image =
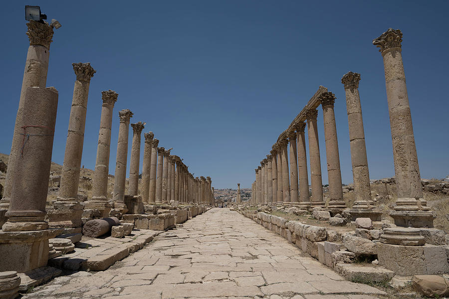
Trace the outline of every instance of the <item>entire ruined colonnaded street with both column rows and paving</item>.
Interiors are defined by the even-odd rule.
[[[324,86],[256,165],[251,196],[237,183],[235,203],[227,201],[227,208],[219,208],[225,202],[216,199],[219,190],[210,176],[194,176],[184,159],[172,154],[177,149],[160,146],[164,136],[158,140],[155,133],[143,132],[152,129],[151,123],[130,123],[133,112],[122,109],[114,128],[119,99],[110,89],[101,93],[95,170],[92,179],[81,176],[87,100],[97,72],[82,62],[72,63],[76,80],[64,160],[60,181],[56,175],[51,180],[56,201],[48,202],[58,108],[58,91],[46,87],[54,25],[30,20],[27,27],[30,45],[0,200],[0,256],[7,260],[0,262],[0,298],[13,299],[19,293],[25,298],[50,293],[49,298],[83,293],[92,298],[193,298],[200,292],[199,298],[339,294],[371,299],[391,295],[383,283],[413,282],[418,290],[428,280],[447,284],[441,294],[449,294],[443,276],[449,273],[449,234],[434,228],[436,212],[424,199],[399,29],[390,28],[373,40],[383,57],[393,145],[397,199],[388,211],[390,220],[372,197],[358,90],[361,75],[356,72],[341,78],[352,204],[344,198],[334,113],[342,102]],[[321,173],[320,113],[327,188]],[[113,177],[112,134],[118,134]],[[89,180],[89,196],[79,194],[80,181]],[[235,189],[229,193],[233,199]],[[367,297],[347,297],[353,295]]]

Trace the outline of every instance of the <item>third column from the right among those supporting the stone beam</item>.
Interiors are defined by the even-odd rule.
[[[299,187],[299,206],[303,208],[308,208],[310,206],[309,198],[309,179],[307,173],[307,156],[305,148],[305,136],[304,128],[305,123],[298,123],[295,126],[296,129],[296,140],[297,140],[297,150],[298,150],[298,187]]]

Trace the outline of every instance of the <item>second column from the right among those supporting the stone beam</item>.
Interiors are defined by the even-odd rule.
[[[323,200],[323,182],[321,180],[321,160],[320,146],[318,142],[318,128],[316,118],[318,111],[316,109],[308,110],[307,135],[309,138],[309,156],[310,156],[310,180],[312,181],[312,207],[324,207]]]

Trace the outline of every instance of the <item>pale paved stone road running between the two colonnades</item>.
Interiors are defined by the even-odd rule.
[[[215,208],[162,233],[107,271],[56,278],[23,299],[374,299],[383,294],[345,281],[237,212]]]

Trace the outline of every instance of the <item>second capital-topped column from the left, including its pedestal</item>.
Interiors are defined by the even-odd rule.
[[[72,66],[76,81],[73,88],[61,183],[57,201],[53,203],[54,210],[48,212],[50,227],[80,228],[83,224],[81,221],[83,206],[77,200],[79,167],[83,153],[89,85],[95,70],[90,63],[72,63]]]

